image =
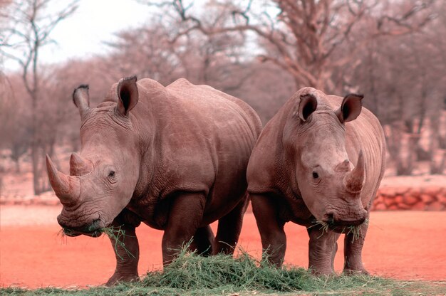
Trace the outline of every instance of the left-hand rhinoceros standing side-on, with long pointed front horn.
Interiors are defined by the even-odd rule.
[[[48,177],[63,209],[67,236],[110,238],[116,257],[108,285],[138,278],[141,222],[164,231],[162,260],[183,243],[199,253],[232,253],[247,208],[246,171],[261,131],[242,100],[185,79],[164,87],[123,78],[90,107],[88,85],[73,93],[81,114],[81,153],[70,174],[46,156]],[[218,220],[214,238],[209,223]]]

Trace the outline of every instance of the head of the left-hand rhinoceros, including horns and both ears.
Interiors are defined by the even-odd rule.
[[[129,114],[138,102],[136,77],[121,79],[96,108],[90,108],[87,85],[76,88],[73,102],[81,113],[81,154],[71,154],[69,175],[48,155],[46,168],[63,204],[58,223],[65,233],[98,236],[128,205],[139,177],[138,140]]]

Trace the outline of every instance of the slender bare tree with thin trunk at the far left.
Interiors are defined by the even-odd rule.
[[[65,8],[56,12],[49,12],[49,7],[55,4],[53,0],[16,0],[3,9],[0,17],[6,20],[2,23],[1,31],[4,33],[0,53],[6,58],[16,60],[21,67],[21,77],[24,87],[31,98],[32,108],[32,141],[31,159],[33,166],[34,193],[40,194],[47,188],[46,181],[41,177],[39,162],[43,159],[38,154],[41,148],[41,139],[36,128],[38,122],[38,102],[41,100],[40,72],[38,69],[38,56],[42,46],[51,43],[51,31],[63,19],[71,16],[78,8],[78,0],[68,2]],[[44,179],[46,180],[46,178]]]

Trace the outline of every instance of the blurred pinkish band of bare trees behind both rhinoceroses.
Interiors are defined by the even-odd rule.
[[[137,0],[155,13],[116,32],[105,54],[47,64],[39,50],[81,5],[48,9],[54,1],[0,0],[0,65],[20,65],[0,72],[1,157],[16,171],[28,159],[36,194],[49,189],[44,155],[80,149],[73,89],[88,83],[94,106],[129,75],[211,85],[248,102],[264,124],[304,86],[363,93],[385,129],[394,174],[413,174],[421,162],[445,173],[443,1]]]

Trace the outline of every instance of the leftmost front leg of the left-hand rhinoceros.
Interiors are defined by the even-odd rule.
[[[139,225],[139,222],[138,222]],[[116,269],[105,285],[115,285],[116,282],[130,282],[138,280],[138,260],[140,258],[140,246],[135,233],[134,223],[124,223],[122,214],[115,218],[112,226],[117,229],[115,236],[119,240],[110,237],[115,251]]]

